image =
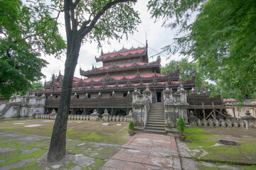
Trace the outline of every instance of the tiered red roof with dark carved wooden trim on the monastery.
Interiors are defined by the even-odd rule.
[[[137,57],[132,59],[133,57]],[[122,59],[122,60],[120,60]],[[112,62],[109,62],[109,61]],[[190,80],[179,81],[178,68],[169,74],[161,74],[160,57],[155,62],[149,62],[147,56],[147,46],[131,48],[129,50],[122,48],[119,52],[109,52],[100,55],[96,61],[103,62],[103,67],[83,71],[80,69],[80,75],[88,77],[87,79],[73,79],[73,91],[112,91],[112,90],[132,90],[134,87],[151,86],[155,89],[163,89],[166,84],[176,89],[180,84],[185,88],[195,86],[194,77]],[[134,62],[140,61],[140,62]],[[104,66],[104,63],[107,66]],[[119,63],[119,64],[114,64]],[[142,71],[142,73],[140,72]],[[113,73],[113,74],[112,74]],[[45,91],[60,91],[63,75],[52,80],[50,86],[45,86]]]

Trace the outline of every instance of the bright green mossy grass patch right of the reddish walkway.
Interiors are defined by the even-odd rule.
[[[233,137],[228,134],[218,134],[209,128],[186,128],[189,149],[195,153],[194,158],[206,162],[220,162],[228,164],[255,164],[256,140],[245,140],[244,137]],[[245,134],[246,135],[246,134]],[[214,146],[218,140],[232,137],[237,146]],[[229,139],[229,138],[228,138]],[[249,139],[249,138],[248,138]],[[194,151],[193,151],[194,150]],[[208,152],[203,156],[203,152]]]

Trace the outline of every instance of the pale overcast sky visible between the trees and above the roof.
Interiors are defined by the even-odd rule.
[[[161,48],[171,44],[174,39],[174,35],[176,34],[176,30],[171,30],[171,28],[162,27],[162,22],[154,22],[154,18],[151,18],[149,11],[147,11],[146,0],[138,0],[134,8],[139,11],[140,18],[142,23],[137,27],[138,32],[135,32],[133,35],[129,35],[128,40],[124,38],[120,42],[117,40],[110,40],[110,44],[106,42],[102,42],[102,50],[104,53],[112,52],[114,50],[121,50],[124,48],[133,47],[143,47],[146,44],[146,40],[148,42],[148,54],[149,54],[149,62],[156,60],[156,57],[151,57],[156,55],[158,52],[161,52]],[[59,20],[60,23],[64,23],[64,15],[61,15]],[[63,36],[65,40],[65,27],[59,27],[60,34]],[[95,56],[99,57],[101,53],[101,49],[97,49],[97,43],[92,42],[86,43],[82,45],[80,49],[80,56],[78,58],[78,65],[75,69],[75,77],[81,78],[80,76],[80,68],[83,70],[92,69],[92,64],[96,65],[96,67],[102,67],[102,62],[96,62]],[[169,63],[170,60],[179,60],[181,59],[176,56],[171,56],[169,59],[167,58],[169,55],[163,54],[161,55],[161,66]],[[65,65],[65,55],[61,57],[60,60],[55,59],[53,56],[43,56],[44,60],[49,62],[50,64],[47,67],[42,69],[43,74],[46,75],[46,81],[50,80],[52,74],[64,74],[64,65]],[[82,77],[84,79],[85,77]],[[42,79],[41,81],[44,81]]]

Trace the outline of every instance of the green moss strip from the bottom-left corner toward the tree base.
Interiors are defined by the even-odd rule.
[[[18,155],[18,157],[15,157],[14,159],[11,159],[7,162],[1,162],[0,166],[9,165],[14,162],[18,162],[21,159],[28,159],[29,157],[34,157],[34,158],[43,157],[43,153],[45,153],[46,151],[47,151],[46,149],[40,149],[36,152],[31,152],[30,154],[20,154]]]

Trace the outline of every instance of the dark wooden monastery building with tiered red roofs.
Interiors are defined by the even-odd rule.
[[[73,78],[73,94],[70,102],[70,114],[90,114],[96,108],[97,112],[104,113],[105,108],[112,115],[127,115],[132,110],[132,91],[137,88],[144,91],[146,86],[152,91],[152,102],[163,102],[163,91],[166,84],[173,91],[183,84],[186,91],[191,91],[195,86],[195,77],[188,81],[180,81],[178,68],[169,74],[161,74],[161,59],[157,57],[154,62],[149,62],[147,45],[131,49],[124,49],[114,52],[101,53],[95,57],[96,62],[102,62],[102,67],[92,65],[90,70],[82,70],[82,79]],[[50,85],[45,84],[45,89],[34,91],[41,96],[46,95],[46,113],[51,113],[53,108],[58,110],[60,91],[63,82],[63,75],[53,78]],[[188,96],[188,103],[191,109],[201,108],[201,101],[206,98],[193,100]],[[208,96],[207,96],[208,98]],[[209,101],[221,101],[220,97]],[[196,103],[197,102],[197,103]],[[198,104],[199,103],[199,104]],[[200,105],[200,106],[198,106]],[[221,105],[221,103],[218,103]]]

